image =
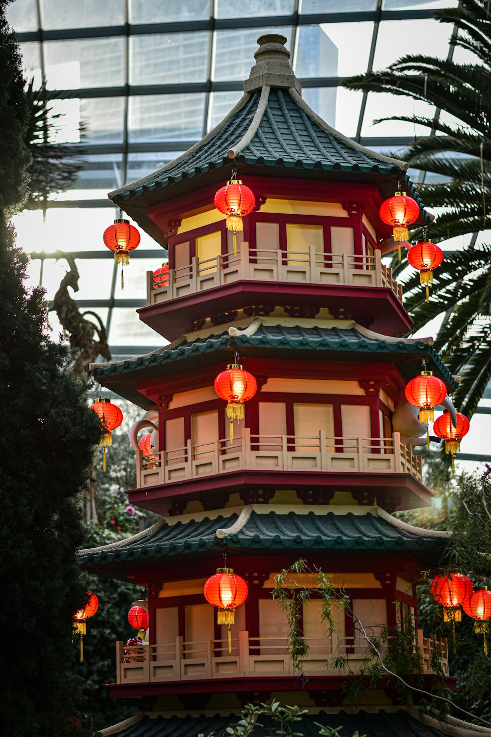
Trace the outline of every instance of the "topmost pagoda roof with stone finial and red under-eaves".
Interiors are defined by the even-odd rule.
[[[384,196],[392,195],[398,183],[404,182],[420,206],[421,216],[414,225],[423,225],[423,203],[406,174],[406,161],[361,146],[307,105],[289,63],[284,36],[264,35],[258,43],[257,61],[244,83],[244,96],[225,119],[182,156],[110,192],[110,200],[165,245],[165,234],[146,210],[228,179],[224,167],[229,171],[237,167],[241,175],[377,184]]]

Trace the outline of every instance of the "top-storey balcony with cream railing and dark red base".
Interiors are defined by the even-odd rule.
[[[247,242],[240,248],[236,256],[194,257],[191,264],[169,270],[167,284],[148,271],[141,319],[175,340],[199,317],[251,305],[291,309],[308,299],[313,313],[327,308],[333,316],[345,315],[379,332],[403,332],[411,326],[402,307],[402,287],[392,278],[392,270],[381,263],[380,251],[372,255],[319,254],[314,246],[308,252],[269,251],[249,248]],[[170,311],[172,324],[164,324],[162,315]]]

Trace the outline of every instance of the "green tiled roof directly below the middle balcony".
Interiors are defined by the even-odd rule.
[[[150,558],[222,551],[225,539],[216,537],[219,528],[236,522],[238,515],[169,525],[165,521],[148,537],[127,539],[115,548],[80,551],[82,566],[107,565]],[[445,548],[441,538],[421,537],[390,525],[373,514],[258,514],[252,511],[239,532],[226,537],[228,550],[236,551],[397,551],[421,553]]]

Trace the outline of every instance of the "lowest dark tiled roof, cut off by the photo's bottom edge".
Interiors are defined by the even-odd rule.
[[[119,737],[160,737],[166,735],[168,737],[196,737],[199,734],[211,734],[215,737],[228,737],[227,727],[236,724],[239,716],[230,714],[228,716],[157,716],[152,719],[148,714],[142,713],[127,719],[126,722],[116,724],[110,727],[110,733],[107,730],[107,737],[118,734]],[[436,720],[432,720],[436,723]],[[266,726],[269,725],[266,718],[261,718]],[[305,714],[299,722],[293,724],[295,733],[303,737],[318,737],[319,727],[316,722],[325,727],[336,729],[342,727],[339,737],[351,737],[353,734],[370,735],[370,737],[443,737],[443,733],[430,724],[422,724],[417,721],[406,711],[400,709],[396,713],[389,713],[381,710],[378,713],[367,713],[364,710],[356,714],[348,714],[340,711],[337,714],[319,711],[317,714]],[[439,724],[444,730],[445,726]],[[468,733],[474,736],[478,733],[473,730],[475,725],[469,724]],[[117,730],[117,727],[121,727]],[[116,731],[115,731],[116,730]],[[447,730],[445,730],[446,732]],[[448,732],[447,732],[448,733]],[[453,732],[455,734],[455,728]],[[462,730],[464,733],[464,730]],[[106,730],[102,730],[102,737],[105,737]],[[254,734],[257,737],[266,737],[270,734],[261,726],[254,727]]]

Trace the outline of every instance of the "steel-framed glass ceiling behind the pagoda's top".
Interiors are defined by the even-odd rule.
[[[286,35],[314,111],[362,144],[397,150],[423,130],[373,119],[396,108],[421,115],[429,106],[347,91],[339,82],[409,52],[446,57],[448,25],[432,12],[451,4],[456,0],[15,0],[7,15],[25,74],[36,82],[45,76],[52,108],[64,113],[57,142],[77,144],[79,126],[85,129],[85,168],[75,188],[55,195],[45,217],[15,217],[18,245],[32,254],[32,283],[53,298],[67,269],[54,252],[74,254],[77,301],[105,321],[113,357],[160,347],[135,307],[144,304],[146,270],[165,252],[142,233],[121,292],[102,243],[116,215],[107,192],[162,167],[211,130],[241,97],[256,40],[271,31]],[[56,335],[54,312],[50,321]]]

